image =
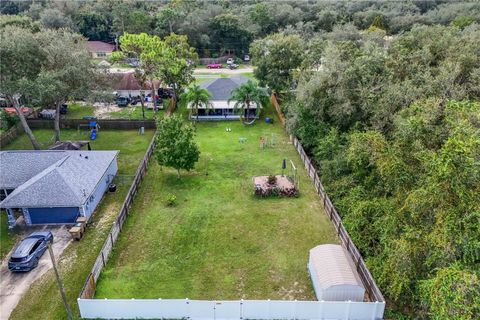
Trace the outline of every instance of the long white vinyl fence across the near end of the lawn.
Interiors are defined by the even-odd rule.
[[[383,319],[385,302],[78,299],[87,319]]]

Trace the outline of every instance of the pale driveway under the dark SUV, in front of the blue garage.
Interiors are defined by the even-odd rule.
[[[35,229],[39,231],[47,229],[53,233],[53,253],[55,258],[62,254],[63,250],[72,240],[70,233],[64,226],[48,226]],[[26,234],[34,231],[29,229]],[[39,279],[45,272],[52,268],[50,256],[48,250],[45,251],[42,258],[38,262],[38,267],[27,273],[13,273],[8,270],[8,257],[2,261],[1,273],[0,273],[0,319],[7,320],[13,309],[17,306],[22,296],[27,292],[30,285],[37,279]],[[58,261],[58,260],[57,260]],[[60,296],[59,296],[60,298]]]

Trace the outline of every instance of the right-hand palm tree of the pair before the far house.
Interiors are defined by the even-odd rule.
[[[233,89],[228,103],[230,103],[230,101],[235,101],[233,109],[241,110],[240,119],[243,124],[250,125],[254,123],[255,119],[260,115],[262,99],[264,97],[268,97],[267,90],[259,87],[252,80],[248,80],[238,88]],[[255,116],[250,119],[250,107],[252,104],[256,105]]]

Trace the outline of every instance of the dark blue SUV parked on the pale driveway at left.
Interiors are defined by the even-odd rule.
[[[38,260],[47,250],[48,243],[53,242],[50,231],[33,232],[17,245],[10,260],[8,269],[12,272],[26,272],[38,265]]]

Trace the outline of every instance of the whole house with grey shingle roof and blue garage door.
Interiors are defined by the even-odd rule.
[[[10,227],[73,224],[90,218],[117,173],[118,151],[0,152],[0,208]]]

